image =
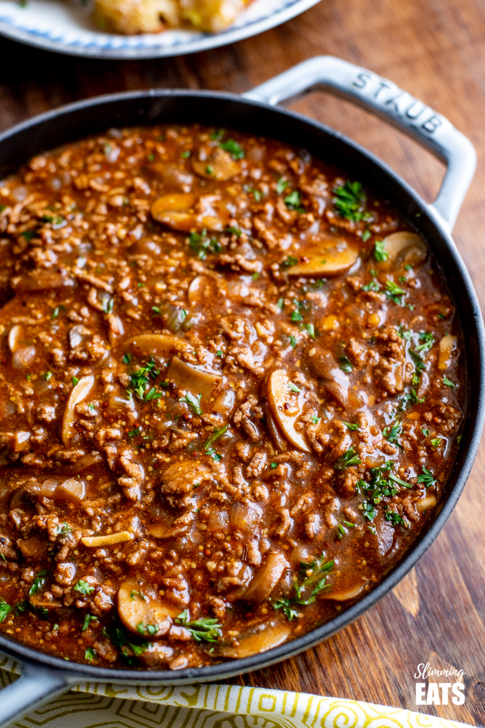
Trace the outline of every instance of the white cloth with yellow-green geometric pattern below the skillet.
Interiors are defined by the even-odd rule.
[[[18,665],[0,654],[0,687]],[[0,692],[1,700],[1,692]],[[136,687],[85,682],[20,728],[457,728],[464,724],[358,700],[230,685]]]

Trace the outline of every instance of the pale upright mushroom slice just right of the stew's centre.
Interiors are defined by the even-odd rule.
[[[292,392],[289,387],[289,376],[283,369],[275,369],[268,378],[268,404],[276,424],[285,438],[305,452],[310,448],[305,438],[294,429],[297,418],[302,414],[305,395],[302,391]]]

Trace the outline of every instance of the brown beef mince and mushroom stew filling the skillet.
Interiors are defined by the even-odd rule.
[[[460,441],[460,333],[364,183],[199,126],[0,183],[2,632],[199,667],[321,625],[409,549]]]

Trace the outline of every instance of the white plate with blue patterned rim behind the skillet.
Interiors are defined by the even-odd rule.
[[[235,43],[285,23],[319,0],[255,0],[227,31],[164,31],[122,36],[92,25],[89,7],[64,0],[0,0],[0,34],[21,43],[89,58],[161,58]]]

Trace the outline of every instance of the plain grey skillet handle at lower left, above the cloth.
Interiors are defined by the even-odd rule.
[[[60,670],[51,670],[27,660],[22,663],[20,678],[0,691],[0,728],[20,720],[44,703],[76,684],[79,678],[66,676]]]

